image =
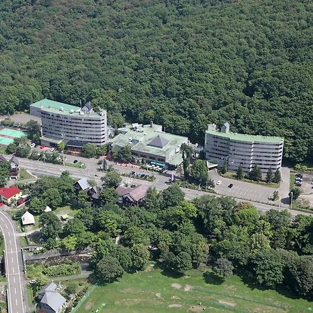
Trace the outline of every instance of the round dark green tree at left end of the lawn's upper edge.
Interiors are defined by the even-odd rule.
[[[103,282],[113,282],[122,277],[124,270],[116,257],[106,255],[98,262],[95,274]]]

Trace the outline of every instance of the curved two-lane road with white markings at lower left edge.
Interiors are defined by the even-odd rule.
[[[24,287],[22,254],[15,231],[15,225],[5,212],[0,211],[0,230],[3,234],[8,278],[8,312],[24,313]]]

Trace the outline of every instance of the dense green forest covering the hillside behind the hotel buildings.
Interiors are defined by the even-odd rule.
[[[1,0],[0,113],[91,100],[203,143],[209,122],[313,161],[313,3]]]

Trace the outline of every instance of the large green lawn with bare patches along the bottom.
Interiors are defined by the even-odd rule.
[[[287,298],[274,290],[249,287],[234,275],[221,282],[214,274],[160,269],[125,274],[120,282],[96,287],[75,313],[163,312],[307,312],[313,303]],[[98,310],[98,311],[96,311]]]

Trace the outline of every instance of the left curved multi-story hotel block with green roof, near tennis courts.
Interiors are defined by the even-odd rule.
[[[56,146],[61,141],[69,150],[81,150],[86,143],[104,145],[108,138],[106,111],[93,111],[90,102],[83,108],[43,99],[30,106],[31,115],[42,121],[42,145]]]

